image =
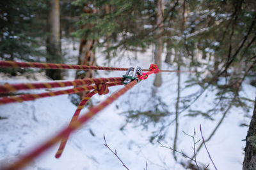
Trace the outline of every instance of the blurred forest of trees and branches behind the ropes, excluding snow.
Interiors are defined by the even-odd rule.
[[[130,110],[125,114],[129,123],[142,122],[144,127],[160,125],[149,139],[152,143],[165,138],[164,129],[168,124],[164,118],[172,115],[175,135],[171,143],[172,149],[177,150],[179,115],[209,89],[216,90],[213,106],[205,111],[189,110],[188,113],[191,118],[204,117],[212,121],[214,116],[220,116],[206,143],[218,132],[231,108],[241,108],[244,117],[252,117],[256,103],[241,96],[240,92],[244,82],[256,86],[256,2],[253,0],[10,0],[1,1],[0,9],[1,60],[69,64],[67,54],[61,50],[61,39],[70,39],[74,43],[79,41],[77,64],[96,66],[97,49],[103,51],[106,66],[109,66],[111,60],[122,57],[118,53],[133,52],[135,55],[131,60],[136,60],[136,53],[152,48],[159,69],[164,61],[178,71],[193,71],[185,88],[199,85],[200,89],[181,97],[180,90],[184,90],[180,85],[182,73],[177,73],[177,98],[172,113],[163,110],[164,103],[157,100],[156,110]],[[33,69],[0,71],[13,78],[20,75],[33,77],[35,73]],[[52,80],[64,79],[65,74],[63,71],[45,71]],[[78,71],[74,78],[92,78],[95,74]],[[153,93],[157,93],[163,78],[163,74],[156,74]],[[76,104],[74,99],[76,97],[72,102]],[[253,114],[256,114],[255,110]],[[245,152],[244,169],[253,164],[255,167],[252,152],[256,145],[255,118],[256,115],[252,117],[251,130],[246,137],[248,151]],[[249,124],[241,126],[249,127]],[[202,146],[200,143],[196,152]],[[175,160],[177,154],[173,152]]]

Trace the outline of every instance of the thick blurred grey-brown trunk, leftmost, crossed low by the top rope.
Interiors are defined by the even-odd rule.
[[[47,62],[61,62],[61,45],[60,45],[60,2],[59,0],[50,0],[49,13],[47,18],[47,40],[46,51],[49,57]],[[46,73],[53,80],[62,79],[61,70],[47,69]]]

